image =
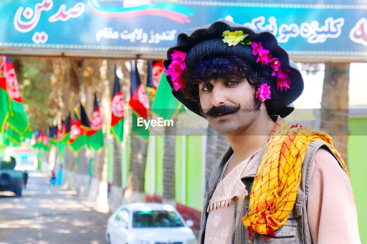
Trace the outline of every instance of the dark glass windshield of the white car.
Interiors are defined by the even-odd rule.
[[[134,211],[132,228],[183,227],[182,221],[173,211]]]

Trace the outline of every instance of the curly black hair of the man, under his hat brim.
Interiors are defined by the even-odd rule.
[[[216,78],[235,77],[246,79],[256,88],[262,83],[270,86],[271,99],[265,100],[265,106],[269,115],[275,114],[274,109],[281,107],[280,90],[277,89],[276,76],[272,76],[273,69],[269,65],[260,62],[253,63],[236,56],[203,56],[197,65],[182,74],[185,87],[181,89],[183,96],[197,102],[199,99],[199,84],[209,83]],[[256,99],[256,101],[258,101]],[[284,105],[283,105],[284,106]]]

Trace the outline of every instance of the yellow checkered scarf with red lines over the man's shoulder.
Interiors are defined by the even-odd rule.
[[[255,175],[250,195],[250,212],[241,219],[248,229],[250,239],[252,230],[275,236],[274,230],[287,221],[301,182],[306,149],[312,141],[326,143],[346,171],[342,157],[333,147],[333,140],[326,132],[305,126],[297,127],[284,119],[278,119]]]

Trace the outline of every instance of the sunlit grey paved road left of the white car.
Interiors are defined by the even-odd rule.
[[[0,192],[0,243],[106,243],[109,215],[95,211],[75,191],[49,188],[48,182],[34,171],[21,198]]]

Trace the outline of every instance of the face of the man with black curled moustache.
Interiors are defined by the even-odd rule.
[[[225,135],[239,135],[258,116],[261,106],[255,99],[255,86],[240,78],[201,83],[199,97],[204,117],[218,133]]]

